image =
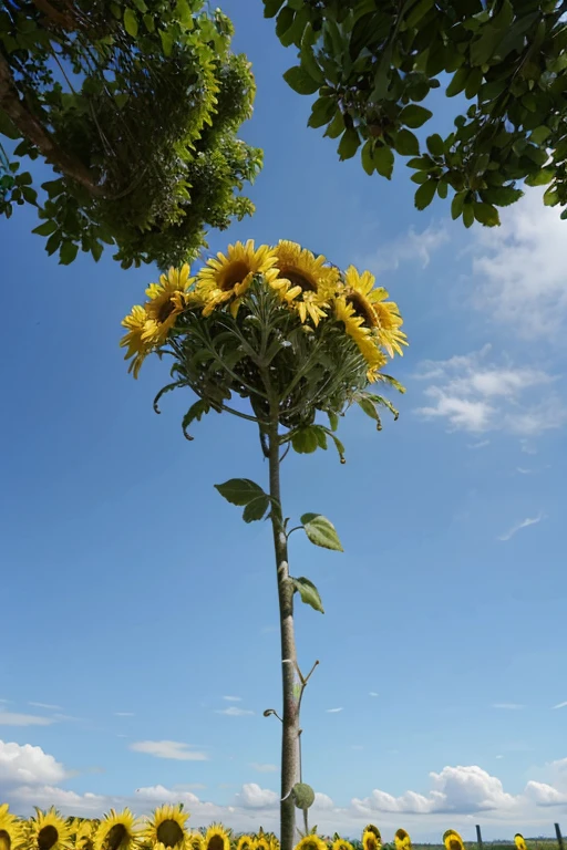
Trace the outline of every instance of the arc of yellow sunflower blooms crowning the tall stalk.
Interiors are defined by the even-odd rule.
[[[364,357],[371,382],[378,380],[386,354],[401,354],[401,346],[408,344],[398,305],[386,301],[385,289],[374,287],[369,271],[349,266],[342,273],[326,257],[296,242],[255,247],[250,239],[229,245],[226,255],[207,260],[196,276],[188,266],[172,268],[159,283],[148,287],[147,301],[136,304],[122,322],[126,333],[121,345],[134,377],[145,357],[166,343],[182,313],[202,311],[207,318],[226,307],[236,317],[257,277],[307,329],[326,319],[340,322]]]

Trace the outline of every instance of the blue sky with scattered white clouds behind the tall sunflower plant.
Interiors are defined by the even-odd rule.
[[[467,232],[442,201],[415,212],[403,160],[392,183],[340,164],[260,6],[224,4],[258,83],[257,214],[210,247],[289,238],[368,267],[411,341],[396,423],[377,434],[353,412],[346,466],[286,463],[286,512],[328,515],[346,550],[292,538],[327,612],[297,616],[302,666],[321,662],[303,709],[316,820],[550,833],[567,823],[566,225],[534,190],[497,231]],[[163,364],[135,382],[117,345],[155,269],[60,267],[33,226],[18,209],[0,230],[1,796],[86,813],[184,799],[195,823],[270,826],[270,533],[213,488],[265,478],[257,436],[212,416],[186,443],[181,394],[156,416]]]

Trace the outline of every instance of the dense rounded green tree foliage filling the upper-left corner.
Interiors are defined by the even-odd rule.
[[[261,152],[237,138],[254,77],[233,24],[203,0],[0,3],[0,214],[38,208],[34,232],[71,262],[79,249],[161,267],[193,259],[207,227],[254,211],[240,195]],[[1,138],[4,137],[4,139]],[[7,147],[11,149],[9,154]],[[54,179],[33,187],[22,157]]]

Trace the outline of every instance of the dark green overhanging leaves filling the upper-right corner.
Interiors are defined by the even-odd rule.
[[[360,153],[368,174],[392,176],[410,157],[415,206],[452,189],[466,227],[499,224],[517,182],[547,186],[546,205],[567,205],[567,2],[557,0],[264,0],[299,64],[285,79],[318,94],[309,126]],[[421,105],[445,86],[463,107],[445,138],[413,132]],[[466,101],[470,101],[468,108]],[[567,218],[567,208],[561,218]]]

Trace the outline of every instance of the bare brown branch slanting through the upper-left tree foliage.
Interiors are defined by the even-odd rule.
[[[84,186],[91,195],[104,197],[104,186],[95,183],[93,174],[82,163],[65,154],[43,124],[33,115],[23,101],[12,79],[10,66],[0,55],[0,107],[16,124],[20,133],[45,157],[48,163],[61,168],[73,180]]]

